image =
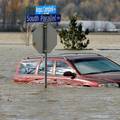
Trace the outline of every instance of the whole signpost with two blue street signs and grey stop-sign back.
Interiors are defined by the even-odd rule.
[[[45,61],[45,88],[47,88],[47,52],[50,52],[56,45],[57,41],[57,32],[53,30],[49,24],[49,22],[60,22],[61,15],[57,14],[57,6],[56,5],[46,5],[46,0],[42,0],[44,2],[43,6],[36,6],[35,14],[26,15],[27,23],[34,22],[42,22],[42,28],[38,28],[33,32],[34,37],[34,47],[38,50],[39,53],[44,53],[44,61]],[[40,33],[38,33],[41,31]],[[49,32],[48,32],[49,31]],[[41,37],[42,36],[42,37]],[[49,36],[49,37],[48,37]],[[42,38],[41,42],[37,40]],[[48,40],[50,39],[50,40]],[[40,39],[41,40],[41,39]],[[54,42],[52,42],[54,41]],[[48,48],[49,46],[49,48]]]

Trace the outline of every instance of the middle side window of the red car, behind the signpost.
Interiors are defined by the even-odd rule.
[[[53,65],[54,61],[47,61],[47,73],[48,74],[53,74]],[[41,62],[39,69],[38,69],[38,74],[44,74],[45,73],[45,61]]]

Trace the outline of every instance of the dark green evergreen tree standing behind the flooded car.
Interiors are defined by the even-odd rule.
[[[89,39],[86,35],[89,34],[89,30],[82,30],[82,24],[77,25],[77,16],[70,18],[68,29],[62,28],[59,32],[61,43],[65,49],[82,50],[89,44]]]

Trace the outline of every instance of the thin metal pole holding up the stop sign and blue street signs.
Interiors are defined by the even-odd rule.
[[[45,88],[47,88],[47,24],[43,24],[43,53],[45,54]]]

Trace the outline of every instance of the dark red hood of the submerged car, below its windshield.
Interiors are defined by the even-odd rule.
[[[96,82],[116,82],[120,83],[120,72],[108,72],[100,74],[89,74],[84,76],[88,80],[94,80]]]

